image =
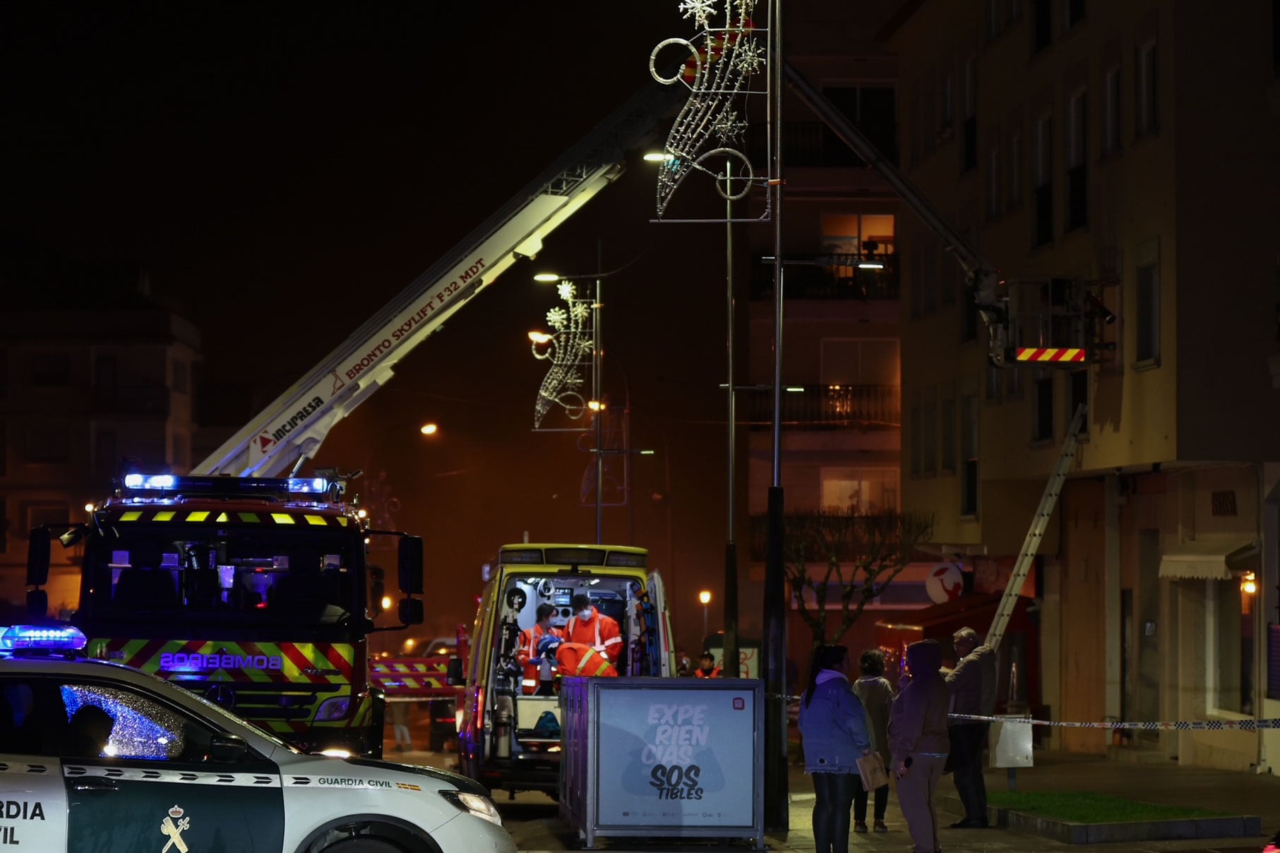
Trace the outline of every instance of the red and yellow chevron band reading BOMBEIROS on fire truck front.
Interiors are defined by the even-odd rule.
[[[170,680],[351,684],[349,643],[253,643],[227,639],[93,639],[90,656]]]

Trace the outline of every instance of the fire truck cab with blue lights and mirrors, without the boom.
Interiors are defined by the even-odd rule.
[[[383,600],[372,537],[398,540],[401,625],[422,622],[422,540],[367,529],[323,477],[124,477],[90,520],[72,622],[90,657],[136,666],[307,751],[379,757],[383,696],[367,638]],[[28,582],[51,535],[32,532]],[[32,609],[44,611],[40,593]]]

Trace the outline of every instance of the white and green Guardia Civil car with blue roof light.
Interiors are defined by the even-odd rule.
[[[488,792],[305,755],[74,628],[0,636],[0,845],[45,852],[515,853]]]

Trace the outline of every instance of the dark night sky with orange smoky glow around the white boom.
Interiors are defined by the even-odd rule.
[[[0,237],[145,270],[201,330],[201,423],[239,427],[645,84],[650,49],[692,35],[677,5],[0,5]],[[659,451],[605,540],[652,549],[698,642],[726,536],[723,229],[650,224],[653,192],[631,162],[321,450],[381,478],[425,537],[425,633],[470,622],[500,544],[594,541],[586,454],[531,432],[525,333],[556,304],[532,274],[595,271],[599,246],[605,270],[639,257],[605,283],[605,349],[632,446]],[[605,387],[623,395],[616,366]]]

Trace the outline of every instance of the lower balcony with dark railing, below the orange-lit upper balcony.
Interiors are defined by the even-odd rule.
[[[812,427],[899,428],[901,389],[897,385],[795,385],[782,391],[782,423]],[[740,398],[753,425],[773,422],[773,391],[751,389]]]

